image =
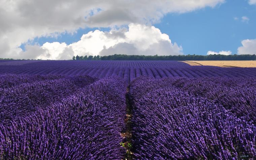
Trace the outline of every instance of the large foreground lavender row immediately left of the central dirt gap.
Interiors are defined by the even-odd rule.
[[[30,115],[0,125],[2,159],[121,159],[126,83],[101,79]]]

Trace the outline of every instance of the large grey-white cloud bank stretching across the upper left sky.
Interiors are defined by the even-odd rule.
[[[225,0],[0,0],[0,57],[22,58],[29,39],[85,27],[151,25],[167,13],[215,7]],[[64,51],[63,51],[64,52]],[[46,56],[47,57],[47,56]]]

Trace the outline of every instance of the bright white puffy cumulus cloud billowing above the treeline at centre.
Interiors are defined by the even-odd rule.
[[[40,55],[35,59],[71,59],[75,55],[181,55],[182,47],[172,43],[167,34],[154,26],[129,24],[129,29],[99,30],[84,34],[81,40],[66,43],[46,42],[40,47]],[[35,46],[38,49],[38,46]],[[28,53],[34,48],[27,48]],[[43,52],[41,52],[43,51]]]

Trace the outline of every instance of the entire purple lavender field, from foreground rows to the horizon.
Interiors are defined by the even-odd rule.
[[[256,68],[0,60],[0,159],[254,159]]]

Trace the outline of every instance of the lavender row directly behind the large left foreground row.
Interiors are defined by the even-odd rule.
[[[95,80],[89,76],[73,76],[1,89],[0,123],[7,123],[15,117],[27,115],[39,108],[60,101]]]

